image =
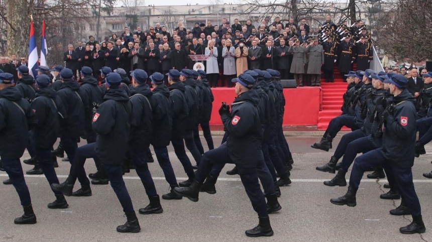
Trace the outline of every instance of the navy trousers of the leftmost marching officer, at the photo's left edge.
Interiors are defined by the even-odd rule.
[[[21,166],[20,158],[8,159],[1,157],[1,159],[3,168],[5,168],[9,179],[11,179],[12,185],[14,185],[15,190],[17,190],[21,205],[24,207],[32,205],[32,199],[30,198],[29,188],[27,187],[26,180],[24,179],[23,167]]]

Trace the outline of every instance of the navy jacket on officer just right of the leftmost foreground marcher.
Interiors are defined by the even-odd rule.
[[[31,105],[38,119],[33,137],[35,146],[50,150],[60,134],[62,119],[59,113],[66,117],[66,110],[57,92],[49,87],[39,89]]]

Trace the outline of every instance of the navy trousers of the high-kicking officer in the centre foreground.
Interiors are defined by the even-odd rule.
[[[257,159],[259,158],[257,157]],[[233,163],[233,161],[230,159],[230,156],[228,154],[228,148],[225,143],[216,149],[204,153],[201,163],[198,166],[195,180],[202,184],[205,178],[210,174],[210,171],[212,170],[214,165],[225,165],[226,163]],[[264,162],[261,162],[261,164],[264,164]],[[239,172],[240,179],[242,180],[243,186],[245,187],[246,193],[248,194],[254,210],[258,213],[260,217],[267,217],[267,205],[264,194],[261,191],[261,187],[258,182],[257,168],[244,168],[241,166],[237,166],[237,170]],[[271,179],[270,182],[273,184]]]

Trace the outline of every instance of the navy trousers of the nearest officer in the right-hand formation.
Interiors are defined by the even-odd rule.
[[[350,186],[357,190],[364,171],[372,167],[384,167],[389,184],[397,186],[401,196],[404,197],[408,209],[411,211],[411,215],[420,216],[420,202],[418,201],[414,183],[412,182],[411,167],[401,168],[395,166],[392,164],[392,161],[384,157],[382,148],[369,151],[356,158],[353,170],[351,171]]]

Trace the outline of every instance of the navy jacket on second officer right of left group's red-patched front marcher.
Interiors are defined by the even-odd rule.
[[[170,92],[165,84],[153,89],[153,135],[151,144],[156,147],[169,145],[172,131],[172,102]]]

